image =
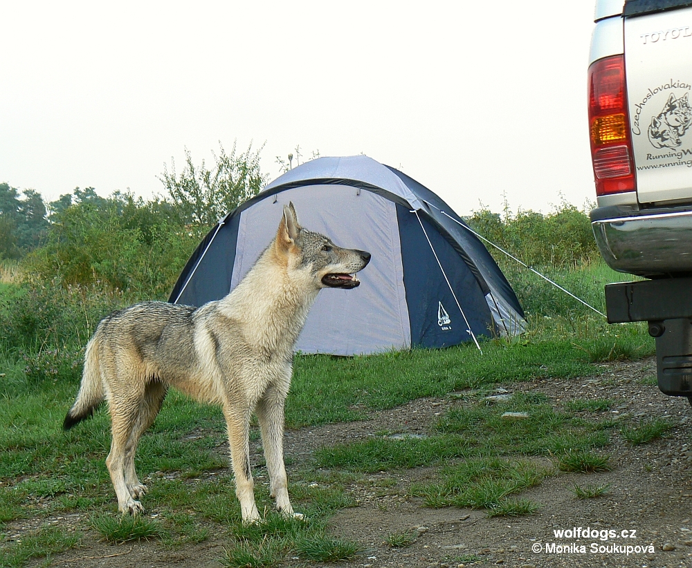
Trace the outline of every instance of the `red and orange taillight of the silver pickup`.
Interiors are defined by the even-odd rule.
[[[589,68],[589,128],[597,196],[635,191],[623,55]]]

